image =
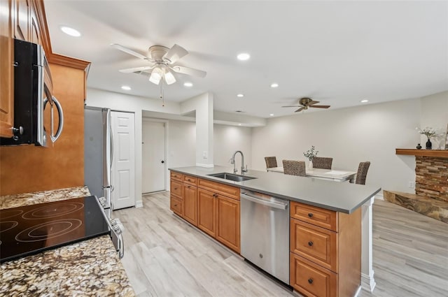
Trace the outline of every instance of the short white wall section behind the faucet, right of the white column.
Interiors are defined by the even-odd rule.
[[[244,164],[252,168],[252,129],[242,126],[214,125],[215,165],[233,166],[229,163],[233,153],[241,150]],[[235,157],[237,168],[241,168],[241,155]],[[238,171],[238,173],[241,173]]]

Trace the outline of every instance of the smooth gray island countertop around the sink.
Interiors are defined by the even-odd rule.
[[[282,175],[274,172],[249,170],[244,175],[253,177],[253,180],[234,182],[209,176],[214,173],[232,173],[233,168],[214,166],[204,168],[198,166],[169,168],[171,171],[231,184],[241,189],[258,191],[263,194],[297,201],[319,208],[337,212],[351,213],[360,205],[377,194],[381,187],[372,184],[351,184],[349,182],[333,182],[318,178],[305,178],[294,175]]]

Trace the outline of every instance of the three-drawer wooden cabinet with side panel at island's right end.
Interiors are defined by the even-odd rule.
[[[351,297],[360,287],[360,209],[350,215],[291,202],[290,285],[305,296]]]

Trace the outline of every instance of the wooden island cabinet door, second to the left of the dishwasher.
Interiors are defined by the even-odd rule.
[[[197,190],[198,217],[197,227],[209,234],[216,236],[216,194],[204,189]]]

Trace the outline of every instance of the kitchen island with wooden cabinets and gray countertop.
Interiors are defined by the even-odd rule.
[[[170,168],[170,171],[172,211],[239,254],[240,251],[243,254],[240,242],[246,238],[240,235],[240,223],[241,232],[246,230],[240,217],[248,211],[243,214],[241,207],[240,214],[240,192],[248,190],[268,200],[270,196],[290,201],[290,238],[280,241],[290,246],[288,284],[299,293],[351,297],[359,293],[361,283],[372,291],[369,215],[379,187],[265,171],[248,171],[243,178],[232,176],[232,168],[223,166]],[[247,195],[241,195],[241,205],[243,196],[246,200]],[[257,222],[253,224],[256,226]],[[255,229],[253,232],[257,232]],[[255,254],[264,258],[262,254],[267,250],[263,246],[279,242],[272,240],[266,243],[255,239],[253,246],[258,249]],[[270,259],[269,256],[266,261]],[[287,278],[282,279],[288,282]]]

